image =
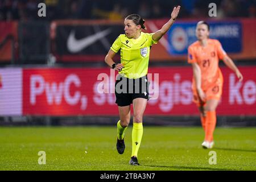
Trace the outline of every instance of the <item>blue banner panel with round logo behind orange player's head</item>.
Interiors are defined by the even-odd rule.
[[[196,42],[196,23],[175,23],[168,31],[170,55],[186,55],[188,46]],[[242,27],[240,22],[209,22],[210,39],[218,39],[227,53],[240,53]],[[232,44],[230,44],[232,43]]]

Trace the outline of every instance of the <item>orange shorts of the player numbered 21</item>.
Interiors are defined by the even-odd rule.
[[[207,89],[203,89],[206,96],[206,101],[220,100],[222,95],[222,86],[223,86],[223,78],[221,76],[216,80],[216,82],[209,85]],[[193,91],[193,102],[195,102],[197,106],[205,105],[206,103],[199,99],[199,95],[197,94],[197,91],[194,86],[192,86],[192,91]]]

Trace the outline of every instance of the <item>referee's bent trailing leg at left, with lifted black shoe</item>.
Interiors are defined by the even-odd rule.
[[[117,122],[117,151],[119,154],[123,154],[125,151],[125,130],[130,123],[130,105],[118,106],[119,118]]]

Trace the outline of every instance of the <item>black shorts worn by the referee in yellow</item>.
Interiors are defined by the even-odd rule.
[[[129,79],[118,75],[115,81],[115,103],[118,106],[129,106],[135,98],[148,100],[147,75],[137,79]]]

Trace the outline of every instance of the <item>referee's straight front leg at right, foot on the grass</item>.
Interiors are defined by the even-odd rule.
[[[133,100],[133,131],[131,134],[132,137],[132,152],[131,152],[131,161],[132,165],[139,165],[138,163],[138,151],[141,146],[141,140],[143,135],[143,125],[142,119],[144,110],[146,109],[147,99],[145,98],[135,98]]]

